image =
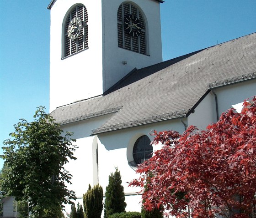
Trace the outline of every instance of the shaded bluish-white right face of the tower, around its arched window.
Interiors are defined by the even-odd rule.
[[[137,69],[162,61],[162,42],[160,24],[160,3],[155,0],[133,0],[144,14],[148,28],[149,55],[139,54],[118,48],[117,45],[117,10],[126,0],[102,0],[104,15],[103,32],[103,90],[106,91],[135,67]],[[111,36],[111,37],[110,37]],[[126,65],[122,61],[127,61]]]

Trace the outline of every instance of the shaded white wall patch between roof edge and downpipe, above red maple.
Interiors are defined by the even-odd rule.
[[[199,130],[204,130],[210,123],[216,122],[215,97],[212,92],[200,102],[194,113],[187,117],[188,126],[196,126]]]

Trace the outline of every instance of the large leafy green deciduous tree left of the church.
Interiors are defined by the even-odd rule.
[[[73,156],[76,146],[71,133],[64,136],[53,117],[38,107],[33,122],[21,119],[14,125],[2,147],[5,172],[2,173],[1,190],[7,196],[14,196],[21,203],[29,202],[29,211],[42,218],[44,210],[71,203],[75,193],[69,191],[66,183],[72,177],[64,164]]]

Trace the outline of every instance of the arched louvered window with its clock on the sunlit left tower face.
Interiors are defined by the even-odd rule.
[[[84,5],[76,5],[68,14],[64,28],[64,57],[88,48],[88,14]]]

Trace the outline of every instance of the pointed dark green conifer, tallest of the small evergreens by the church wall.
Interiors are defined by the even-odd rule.
[[[113,213],[125,212],[126,207],[122,179],[117,168],[114,174],[111,173],[108,177],[108,181],[105,193],[104,218],[108,218]]]

